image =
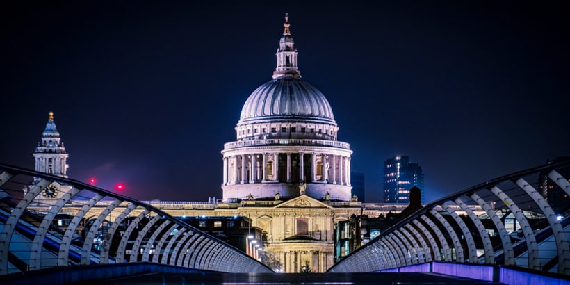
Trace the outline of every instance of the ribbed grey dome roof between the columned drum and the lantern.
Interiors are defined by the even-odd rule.
[[[259,119],[314,119],[336,124],[323,93],[307,82],[285,76],[259,86],[245,101],[240,123]]]

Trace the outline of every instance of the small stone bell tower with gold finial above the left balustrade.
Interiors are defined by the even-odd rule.
[[[54,112],[49,112],[42,140],[38,142],[33,153],[35,171],[67,178],[67,168],[70,166],[67,165],[68,156],[56,129]]]

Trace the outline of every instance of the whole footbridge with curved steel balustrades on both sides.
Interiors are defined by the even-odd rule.
[[[140,283],[153,273],[163,276],[163,284],[168,276],[181,278],[174,283],[209,276],[219,281],[211,284],[364,284],[379,282],[375,276],[383,272],[384,282],[473,282],[462,279],[468,277],[482,284],[515,284],[521,278],[568,284],[569,179],[570,160],[563,160],[485,181],[401,218],[325,277],[298,279],[275,277],[241,250],[143,202],[0,164],[0,280],[33,284],[57,276],[73,283],[132,276]],[[58,199],[50,199],[55,194]],[[80,210],[66,212],[69,205]]]

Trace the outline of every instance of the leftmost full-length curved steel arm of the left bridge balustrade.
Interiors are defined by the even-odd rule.
[[[6,176],[8,177],[8,176]],[[8,252],[10,252],[10,241],[12,241],[12,234],[16,228],[20,217],[26,208],[31,204],[33,198],[40,194],[44,188],[46,188],[51,181],[47,179],[42,179],[31,190],[22,197],[22,200],[16,205],[8,219],[6,219],[6,224],[0,232],[0,275],[8,273]]]

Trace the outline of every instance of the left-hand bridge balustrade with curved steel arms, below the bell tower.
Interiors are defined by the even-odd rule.
[[[236,247],[144,202],[0,164],[0,275],[142,261],[195,270],[272,272]]]

